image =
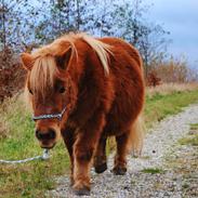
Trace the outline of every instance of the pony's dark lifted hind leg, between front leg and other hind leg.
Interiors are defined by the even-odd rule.
[[[107,169],[105,149],[106,137],[101,137],[94,157],[94,168],[96,173],[103,173]]]

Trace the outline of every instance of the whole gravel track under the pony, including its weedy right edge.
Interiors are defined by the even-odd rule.
[[[184,108],[156,124],[145,138],[141,158],[129,156],[128,173],[117,176],[108,170],[92,171],[93,198],[194,198],[198,197],[198,147],[182,146],[177,141],[189,133],[189,124],[198,123],[198,105]],[[50,197],[75,198],[67,175],[57,179],[58,187]],[[85,197],[85,196],[84,196]]]

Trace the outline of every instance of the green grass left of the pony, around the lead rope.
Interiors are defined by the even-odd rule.
[[[2,108],[1,108],[2,109]],[[0,138],[0,159],[23,159],[42,154],[35,138],[34,122],[23,103],[12,100],[3,107],[0,119],[6,122],[6,138]],[[48,161],[0,164],[0,197],[44,197],[54,187],[53,176],[68,172],[69,160],[63,143]]]

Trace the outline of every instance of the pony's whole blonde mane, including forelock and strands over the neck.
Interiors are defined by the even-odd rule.
[[[54,57],[56,55],[61,55],[63,52],[71,49],[71,58],[76,57],[78,60],[78,52],[75,47],[75,42],[78,39],[85,41],[96,52],[105,75],[109,74],[108,54],[111,52],[108,44],[87,34],[68,34],[32,53],[35,62],[30,71],[29,82],[30,89],[32,89],[34,92],[41,92],[42,95],[44,95],[44,91],[53,87],[54,72],[56,72]]]

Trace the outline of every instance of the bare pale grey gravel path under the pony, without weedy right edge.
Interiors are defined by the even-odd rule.
[[[198,104],[186,107],[182,113],[156,124],[146,135],[142,157],[129,156],[126,175],[118,176],[110,172],[113,156],[109,157],[106,172],[96,174],[92,171],[90,197],[183,197],[180,175],[169,171],[164,163],[167,158],[179,149],[177,140],[187,135],[189,123],[198,123]],[[156,174],[151,174],[153,171],[156,171]],[[57,183],[58,187],[50,192],[50,197],[77,197],[72,194],[67,175],[57,179]]]

